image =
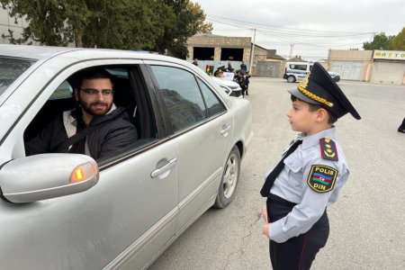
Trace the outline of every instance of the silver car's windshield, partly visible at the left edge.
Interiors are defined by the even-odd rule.
[[[29,59],[0,57],[0,95],[32,64]]]

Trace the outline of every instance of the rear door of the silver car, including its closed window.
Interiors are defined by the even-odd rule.
[[[153,63],[150,69],[163,95],[179,158],[176,230],[181,230],[215,201],[229,154],[233,118],[218,95],[192,71]]]

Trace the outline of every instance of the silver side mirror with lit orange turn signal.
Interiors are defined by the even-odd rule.
[[[78,154],[41,154],[0,166],[2,197],[9,202],[35,202],[81,193],[97,184],[98,166]]]

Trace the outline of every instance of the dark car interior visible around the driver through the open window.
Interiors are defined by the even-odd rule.
[[[127,152],[129,148],[139,148],[140,145],[157,139],[155,120],[148,95],[145,94],[146,86],[139,67],[104,68],[114,77],[113,103],[126,109],[131,123],[138,131],[138,140],[128,148],[122,149],[123,152]],[[25,130],[24,141],[37,136],[58,114],[75,108],[74,85],[76,85],[75,74],[58,86]]]

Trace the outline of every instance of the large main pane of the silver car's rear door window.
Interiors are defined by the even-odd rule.
[[[151,68],[175,132],[185,130],[208,117],[200,88],[192,73],[176,67]]]

